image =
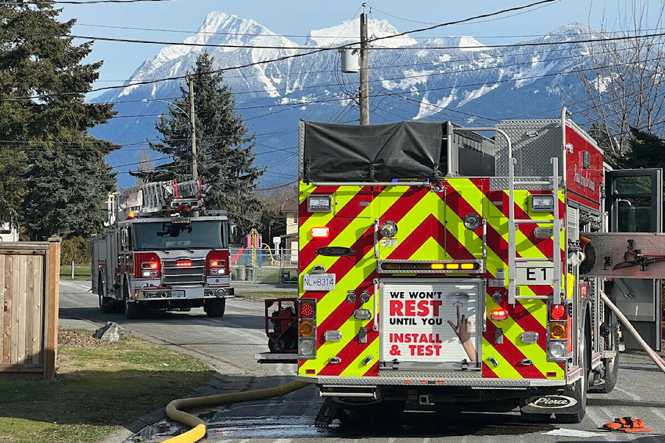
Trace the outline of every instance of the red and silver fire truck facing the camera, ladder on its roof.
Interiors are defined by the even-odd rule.
[[[140,318],[148,309],[203,307],[224,315],[233,297],[230,226],[223,211],[206,210],[207,189],[174,180],[109,195],[108,226],[91,237],[92,291],[103,313]]]

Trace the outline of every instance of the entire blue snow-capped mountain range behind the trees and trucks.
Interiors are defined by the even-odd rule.
[[[576,40],[592,30],[581,24],[557,28],[529,43],[570,42],[554,46],[491,47],[473,37],[416,41],[408,35],[379,39],[370,51],[371,123],[398,120],[452,120],[461,125],[495,125],[503,118],[551,118],[580,97],[575,74],[587,53]],[[399,33],[387,21],[370,20],[371,37]],[[154,122],[163,102],[180,95],[184,80],[136,84],[172,78],[192,70],[200,51],[209,51],[218,67],[251,66],[224,72],[242,114],[258,140],[264,183],[272,186],[297,177],[297,123],[321,120],[355,123],[357,74],[339,69],[337,46],[357,41],[359,22],[346,21],[310,31],[301,46],[256,21],[211,12],[184,43],[217,46],[169,46],[136,69],[129,86],[96,101],[116,102],[118,116],[96,127],[95,136],[131,145],[109,158],[119,170],[136,170],[137,143],[157,138]],[[326,47],[328,51],[315,51]],[[303,55],[312,53],[310,55]],[[277,61],[273,61],[277,60]],[[261,63],[265,62],[265,63]],[[123,118],[123,116],[133,116]],[[124,166],[121,166],[124,165]],[[132,186],[127,174],[121,186]]]

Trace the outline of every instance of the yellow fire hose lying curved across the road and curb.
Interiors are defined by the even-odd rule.
[[[240,401],[252,401],[270,399],[273,397],[282,397],[289,392],[299,390],[311,383],[304,381],[292,381],[275,388],[248,390],[245,392],[231,392],[229,394],[209,395],[207,397],[194,397],[190,399],[176,399],[166,406],[166,416],[176,422],[186,424],[192,429],[186,433],[176,435],[162,443],[194,443],[201,440],[208,428],[206,422],[195,415],[188,414],[181,408],[202,408],[210,406],[220,406],[222,404],[239,403]]]

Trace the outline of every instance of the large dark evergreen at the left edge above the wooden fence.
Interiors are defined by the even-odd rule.
[[[115,182],[105,155],[117,146],[88,135],[112,105],[84,102],[101,62],[82,64],[92,43],[74,46],[74,21],[59,14],[46,2],[0,6],[0,218],[17,215],[33,240],[94,233]]]

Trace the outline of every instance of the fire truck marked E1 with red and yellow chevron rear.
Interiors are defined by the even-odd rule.
[[[297,362],[317,424],[460,404],[579,422],[617,383],[604,293],[659,349],[661,171],[609,170],[565,109],[299,138],[299,297],[267,300],[256,358]]]

